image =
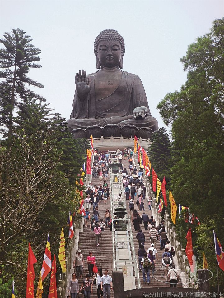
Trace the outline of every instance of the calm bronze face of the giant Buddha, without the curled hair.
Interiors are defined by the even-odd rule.
[[[96,55],[101,66],[118,66],[122,58],[121,44],[116,40],[102,40],[98,44]]]

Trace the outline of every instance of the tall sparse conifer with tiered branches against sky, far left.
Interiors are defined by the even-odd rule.
[[[0,114],[0,125],[5,126],[4,137],[8,138],[8,150],[12,145],[13,109],[18,101],[32,97],[44,101],[44,97],[37,95],[27,88],[26,84],[44,88],[44,86],[27,77],[30,68],[40,68],[35,62],[40,61],[40,49],[35,48],[30,42],[29,35],[24,30],[12,29],[4,34],[0,43],[4,48],[0,49],[0,93],[3,100],[1,110],[7,113]],[[9,100],[9,101],[8,101]]]

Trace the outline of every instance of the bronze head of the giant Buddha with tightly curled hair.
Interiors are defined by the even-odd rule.
[[[94,42],[96,68],[99,69],[100,66],[123,68],[124,52],[124,38],[116,30],[101,31]]]

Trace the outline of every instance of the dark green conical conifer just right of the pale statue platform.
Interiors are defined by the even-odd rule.
[[[152,134],[152,145],[149,147],[148,156],[151,165],[158,177],[162,180],[166,176],[166,182],[170,180],[171,143],[166,129],[161,127]]]

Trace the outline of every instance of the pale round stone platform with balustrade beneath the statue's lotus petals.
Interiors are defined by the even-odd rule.
[[[138,144],[147,150],[152,143],[150,142],[150,139],[144,140],[139,138]],[[115,151],[118,148],[120,150],[124,150],[124,148],[134,149],[134,138],[94,138],[94,149],[97,149],[98,151]]]

